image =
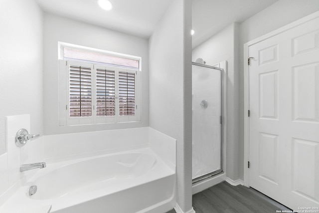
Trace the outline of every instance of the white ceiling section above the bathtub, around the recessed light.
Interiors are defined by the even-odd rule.
[[[113,9],[98,0],[36,0],[49,13],[148,38],[172,0],[110,0]]]

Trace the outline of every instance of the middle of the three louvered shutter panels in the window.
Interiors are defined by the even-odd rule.
[[[115,71],[96,69],[96,116],[115,116]]]

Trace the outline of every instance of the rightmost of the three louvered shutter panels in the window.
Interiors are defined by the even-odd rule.
[[[119,115],[135,115],[135,73],[119,71]]]

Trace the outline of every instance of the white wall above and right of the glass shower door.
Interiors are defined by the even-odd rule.
[[[232,23],[192,50],[192,61],[203,58],[207,65],[228,62],[227,76],[227,152],[226,173],[232,180],[239,179],[239,74],[238,23]]]

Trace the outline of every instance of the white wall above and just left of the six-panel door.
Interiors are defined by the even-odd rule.
[[[319,0],[279,0],[240,24],[240,162],[244,164],[244,43],[319,10]],[[246,163],[245,163],[246,165]],[[244,168],[240,167],[240,179]]]

